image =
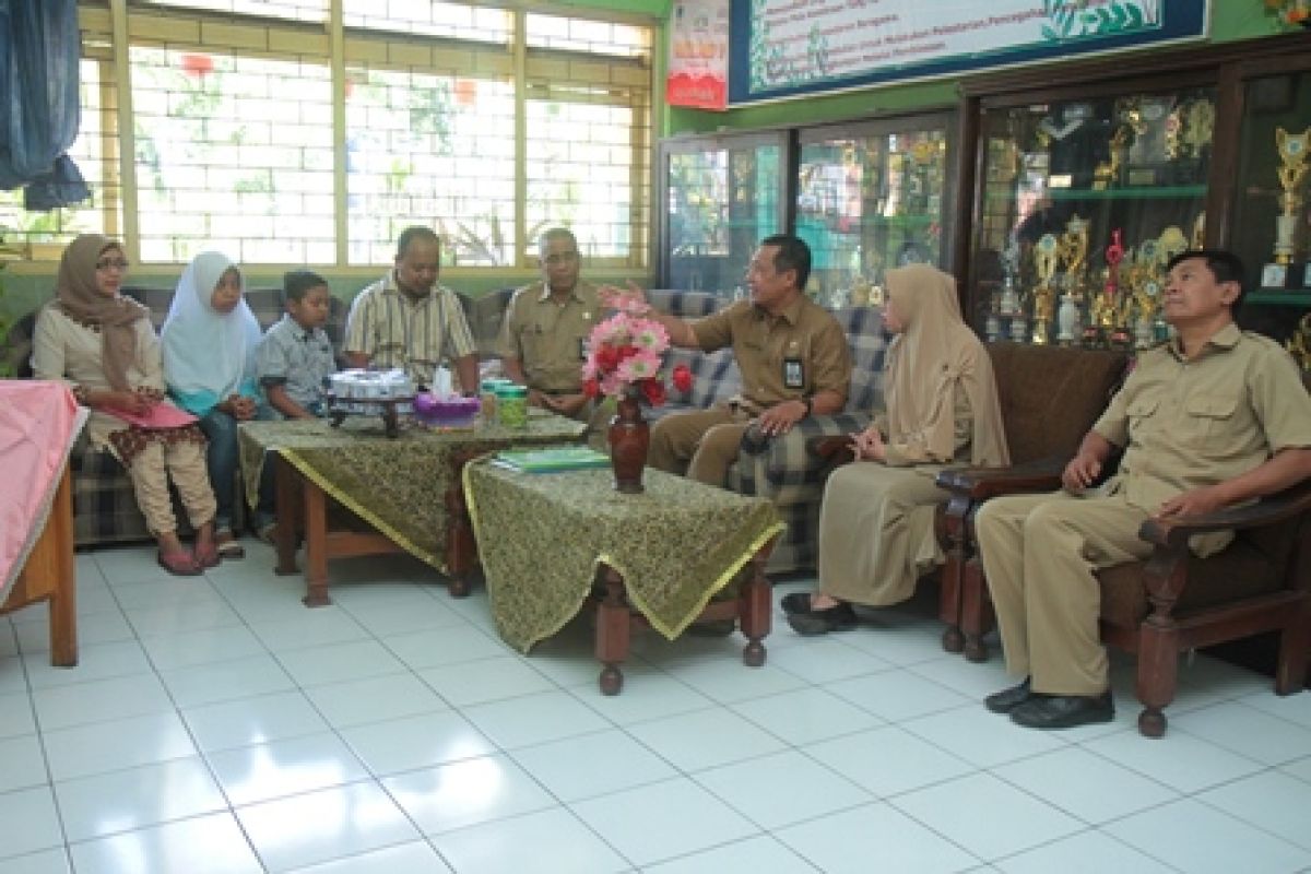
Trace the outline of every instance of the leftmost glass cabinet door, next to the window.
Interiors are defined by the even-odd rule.
[[[755,246],[785,227],[785,145],[781,132],[661,144],[661,284],[739,291]]]

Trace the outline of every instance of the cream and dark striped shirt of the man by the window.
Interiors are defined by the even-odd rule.
[[[416,384],[431,387],[443,360],[472,355],[477,347],[454,291],[433,286],[416,301],[396,287],[391,271],[351,303],[345,350],[364,352],[371,367],[401,368]]]

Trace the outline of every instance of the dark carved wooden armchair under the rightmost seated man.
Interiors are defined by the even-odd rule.
[[[1311,389],[1311,375],[1304,381]],[[947,470],[937,482],[953,493],[953,503],[968,495],[977,508],[994,495],[1054,491],[1063,466],[1065,460],[1053,459],[1006,470]],[[971,519],[964,523],[973,544]],[[1190,537],[1213,531],[1234,531],[1234,541],[1206,558],[1189,552]],[[1143,735],[1165,732],[1179,653],[1198,646],[1278,632],[1274,691],[1291,694],[1303,688],[1311,659],[1311,481],[1205,516],[1148,519],[1138,535],[1154,545],[1151,557],[1105,567],[1097,579],[1103,641],[1138,658]],[[962,580],[965,655],[982,662],[987,647],[981,638],[994,618],[977,554],[966,558]]]

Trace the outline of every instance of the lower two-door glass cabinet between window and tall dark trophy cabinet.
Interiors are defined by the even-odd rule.
[[[663,140],[657,166],[658,282],[745,294],[763,237],[810,245],[806,292],[878,304],[889,267],[950,266],[956,113]]]

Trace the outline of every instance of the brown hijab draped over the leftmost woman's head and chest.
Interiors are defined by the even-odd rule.
[[[127,368],[136,358],[135,324],[148,318],[149,311],[131,297],[106,297],[96,290],[96,262],[110,249],[121,253],[122,245],[98,233],[84,233],[69,242],[59,259],[55,296],[69,318],[100,326],[105,379],[115,390],[126,392],[132,388]]]

